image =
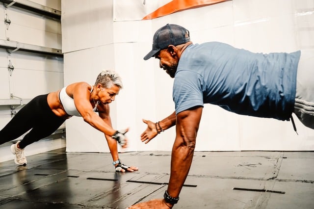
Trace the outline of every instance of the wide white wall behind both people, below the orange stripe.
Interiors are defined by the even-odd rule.
[[[313,0],[232,0],[185,10],[147,21],[113,22],[112,0],[62,0],[62,42],[65,83],[91,83],[106,68],[114,68],[125,88],[112,108],[113,126],[129,126],[126,151],[171,150],[175,129],[145,145],[142,118],[161,120],[174,110],[172,82],[156,59],[143,60],[154,32],[166,23],[190,31],[193,43],[221,41],[252,52],[292,52],[314,49]],[[198,151],[314,150],[314,130],[295,117],[291,122],[227,112],[205,104],[197,137]],[[79,118],[67,121],[67,150],[108,152],[103,134]]]

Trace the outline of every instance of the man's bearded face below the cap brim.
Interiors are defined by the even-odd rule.
[[[171,78],[175,78],[178,67],[178,59],[176,56],[172,56],[168,49],[160,50],[155,55],[156,59],[159,59],[159,67],[166,71]]]

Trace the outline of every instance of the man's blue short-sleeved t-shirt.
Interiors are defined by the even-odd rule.
[[[219,42],[190,45],[175,75],[176,113],[209,103],[237,114],[288,120],[299,58],[300,51],[263,54]]]

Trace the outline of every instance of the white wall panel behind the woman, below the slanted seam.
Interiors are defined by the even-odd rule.
[[[113,45],[111,44],[65,53],[65,85],[79,81],[85,81],[93,85],[102,69],[114,68],[113,51]],[[117,101],[119,96],[117,96]],[[116,104],[117,102],[110,104],[110,115],[114,127],[116,127]],[[67,152],[109,151],[104,134],[85,123],[81,117],[74,116],[66,121],[66,138]]]

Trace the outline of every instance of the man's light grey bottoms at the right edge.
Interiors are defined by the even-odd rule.
[[[314,49],[301,50],[293,112],[305,126],[314,129]]]

